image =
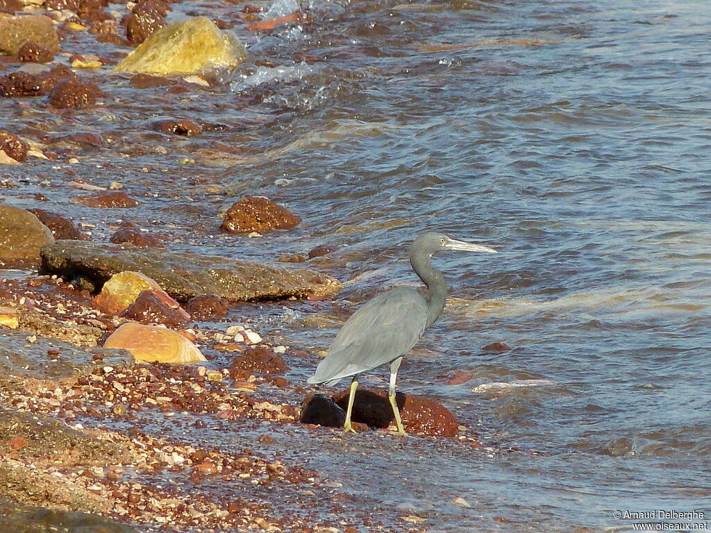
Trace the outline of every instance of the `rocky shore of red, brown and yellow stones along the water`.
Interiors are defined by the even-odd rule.
[[[342,289],[329,275],[332,244],[225,257],[224,239],[297,232],[306,214],[234,198],[220,176],[192,170],[239,157],[235,136],[281,110],[224,123],[171,116],[192,111],[189,98],[229,94],[225,72],[247,53],[225,29],[310,20],[266,11],[0,0],[0,529],[423,530],[397,510],[374,516],[338,479],[304,467],[315,434],[348,446],[343,391],[315,394],[289,377],[324,354],[281,345],[241,316],[240,302],[331,305]],[[232,100],[225,109],[258,103]],[[134,122],[101,129],[127,109]],[[218,244],[194,251],[196,235],[213,234]],[[397,401],[423,442],[481,448],[442,404]],[[389,436],[387,400],[363,389],[354,421]]]

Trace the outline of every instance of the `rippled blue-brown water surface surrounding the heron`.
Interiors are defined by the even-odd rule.
[[[277,441],[376,515],[424,518],[432,532],[630,528],[614,510],[711,516],[709,6],[303,7],[306,26],[237,28],[253,63],[230,90],[183,102],[184,116],[230,126],[214,136],[229,150],[175,141],[168,156],[122,160],[124,183],[146,165],[185,184],[145,203],[176,247],[260,259],[338,247],[311,262],[348,281],[335,304],[244,311],[314,350],[355,304],[417,281],[405,254],[420,230],[496,247],[437,258],[451,299],[400,389],[442,399],[487,443],[518,452],[293,428]],[[114,95],[128,91],[115,83]],[[155,102],[137,106],[147,120]],[[132,128],[152,139],[127,112],[107,112],[123,139]],[[181,151],[195,165],[177,167]],[[205,184],[267,195],[304,222],[264,239],[218,235],[215,211],[230,198]],[[481,349],[493,342],[513,350]],[[458,371],[472,379],[448,385]],[[540,381],[487,386],[515,380]]]

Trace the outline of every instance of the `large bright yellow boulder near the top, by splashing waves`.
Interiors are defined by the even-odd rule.
[[[247,57],[240,40],[204,16],[161,28],[114,70],[144,74],[196,74],[215,68],[235,68]]]

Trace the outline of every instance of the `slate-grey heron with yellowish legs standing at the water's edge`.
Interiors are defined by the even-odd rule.
[[[309,383],[333,386],[344,377],[353,377],[348,396],[346,424],[343,429],[355,433],[351,411],[358,388],[358,374],[380,365],[390,364],[388,399],[395,415],[397,432],[405,435],[400,411],[395,403],[395,379],[402,357],[410,352],[424,330],[439,318],[447,301],[444,274],[430,262],[433,254],[446,250],[496,253],[495,249],[458,241],[441,233],[425,232],[410,246],[410,264],[427,286],[427,296],[410,287],[395,287],[376,296],[348,318],[333,340],[328,355],[316,367]]]

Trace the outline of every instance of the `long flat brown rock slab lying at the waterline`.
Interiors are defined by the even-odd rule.
[[[68,280],[85,276],[95,286],[102,286],[113,274],[138,271],[178,301],[203,294],[237,301],[304,298],[309,294],[335,294],[341,289],[338,281],[311,269],[279,269],[159,248],[62,240],[44,247],[41,254],[41,270],[46,274]]]

